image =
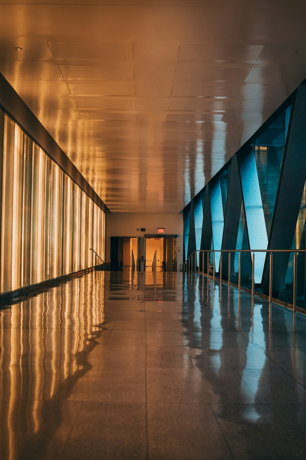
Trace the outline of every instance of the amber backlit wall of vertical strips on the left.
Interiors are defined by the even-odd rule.
[[[0,152],[0,293],[104,259],[104,212],[1,110]]]

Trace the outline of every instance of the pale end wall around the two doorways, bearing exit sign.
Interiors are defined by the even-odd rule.
[[[183,213],[181,214],[121,214],[106,213],[106,258],[109,261],[110,236],[141,236],[156,235],[158,227],[165,228],[165,235],[178,235],[177,265],[183,263]],[[141,232],[140,228],[145,228]],[[137,231],[139,229],[139,231]],[[160,235],[162,236],[162,235]],[[141,247],[144,247],[142,244]],[[145,254],[141,254],[145,256]]]

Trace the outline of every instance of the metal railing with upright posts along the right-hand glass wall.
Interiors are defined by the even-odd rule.
[[[197,265],[197,253],[199,253],[199,261],[198,261],[198,265]],[[216,267],[217,267],[217,264],[216,264],[216,256],[215,254],[218,254],[218,256],[220,257],[220,260],[219,260],[219,268],[218,270],[216,270]],[[231,270],[233,267],[233,263],[231,264],[231,254],[234,253],[235,254],[235,259],[236,258],[236,254],[238,253],[238,273],[237,273],[237,276],[234,276],[236,278],[236,283],[233,283],[231,282],[231,277],[233,276],[232,275],[232,271]],[[228,283],[228,286],[230,285],[234,285],[234,286],[237,286],[238,285],[238,290],[240,291],[241,288],[245,288],[241,286],[241,272],[242,272],[242,267],[241,267],[241,254],[242,253],[249,253],[250,254],[250,257],[251,257],[251,262],[250,262],[250,265],[251,265],[251,270],[250,270],[250,291],[251,291],[251,295],[254,296],[254,293],[255,293],[255,259],[256,259],[256,253],[266,253],[266,256],[265,256],[265,259],[267,259],[267,254],[269,254],[269,257],[267,260],[264,261],[264,266],[266,267],[266,270],[268,269],[268,274],[269,274],[269,282],[268,282],[268,285],[269,285],[269,289],[268,289],[268,297],[269,297],[269,302],[271,303],[272,302],[272,299],[275,301],[275,302],[279,302],[279,299],[275,299],[273,298],[272,296],[272,293],[273,293],[273,254],[275,253],[293,253],[293,281],[292,281],[292,290],[293,290],[293,293],[292,293],[292,304],[291,302],[289,303],[289,305],[292,305],[293,307],[293,311],[296,312],[296,299],[297,299],[297,295],[296,295],[296,286],[297,286],[297,255],[300,253],[300,254],[304,254],[304,258],[306,256],[306,249],[254,249],[254,250],[251,250],[251,249],[234,249],[234,250],[228,250],[228,249],[222,249],[222,250],[197,250],[197,251],[194,251],[192,254],[190,254],[190,256],[188,257],[188,259],[184,262],[183,264],[183,271],[184,272],[187,272],[190,274],[195,272],[198,270],[198,275],[200,275],[200,265],[202,266],[202,271],[201,273],[204,275],[206,275],[207,277],[211,277],[213,279],[217,278],[217,274],[219,275],[218,276],[218,279],[220,282],[227,282]],[[205,257],[205,255],[207,254],[207,256]],[[226,260],[226,264],[228,265],[228,272],[227,272],[227,275],[224,277],[223,274],[224,274],[224,271],[222,270],[222,262],[223,262],[223,258],[224,258],[224,254],[227,254],[227,260]],[[201,259],[201,260],[200,260]],[[212,264],[211,264],[211,259],[212,259]],[[235,263],[235,259],[234,259],[234,263]],[[288,258],[289,259],[289,258]],[[261,263],[262,263],[262,259],[261,259]],[[289,264],[290,262],[288,262]],[[305,266],[305,263],[304,263],[304,266]],[[206,268],[206,270],[205,270]],[[304,269],[305,270],[305,269]],[[306,271],[306,270],[305,270]],[[264,268],[262,267],[262,272],[263,272],[263,275],[262,275],[262,280],[264,280],[264,277],[265,277],[265,272],[264,272]],[[306,277],[306,274],[304,273],[304,286],[306,286],[306,280],[305,280],[305,277]],[[227,278],[227,279],[226,279]],[[257,283],[257,285],[260,286],[261,288],[261,284],[262,284],[262,281],[261,283]],[[304,291],[304,296],[305,296],[305,293],[306,293],[306,288],[305,288],[305,291]],[[259,291],[256,291],[256,295],[262,295],[261,292]]]

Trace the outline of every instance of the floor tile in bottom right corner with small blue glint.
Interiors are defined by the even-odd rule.
[[[211,407],[234,459],[305,458],[305,406],[212,404]]]

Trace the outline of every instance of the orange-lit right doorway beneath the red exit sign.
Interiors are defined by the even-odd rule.
[[[152,271],[154,255],[156,253],[156,271],[176,271],[177,238],[172,235],[158,237],[145,235],[145,271]]]

